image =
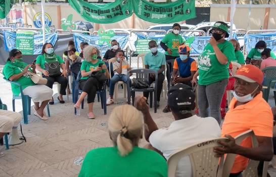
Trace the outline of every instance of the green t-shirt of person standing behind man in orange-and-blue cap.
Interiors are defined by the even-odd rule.
[[[170,32],[166,34],[161,41],[165,43],[169,49],[171,49],[172,54],[170,56],[179,57],[178,47],[183,42],[183,38],[181,35],[175,35],[174,33]],[[169,55],[167,51],[165,52],[165,54]]]

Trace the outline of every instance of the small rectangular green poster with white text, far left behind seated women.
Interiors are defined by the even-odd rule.
[[[16,49],[20,50],[23,55],[33,55],[33,31],[16,32]]]

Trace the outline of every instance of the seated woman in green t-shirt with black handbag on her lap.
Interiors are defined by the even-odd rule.
[[[60,65],[60,68],[62,68],[62,73],[58,74],[51,74],[49,70],[45,70],[45,65],[50,65],[50,63],[58,62]],[[67,72],[65,68],[64,61],[60,58],[60,56],[56,55],[54,52],[54,48],[52,43],[44,43],[42,47],[41,55],[38,55],[35,62],[36,68],[38,71],[40,71],[43,74],[43,77],[46,78],[47,86],[49,86],[51,89],[53,89],[53,85],[55,82],[60,83],[60,93],[58,96],[58,100],[60,103],[65,103],[63,100],[63,95],[66,95],[66,87],[68,84],[67,80]],[[58,67],[59,68],[59,67]],[[49,102],[50,105],[54,104],[54,100]]]

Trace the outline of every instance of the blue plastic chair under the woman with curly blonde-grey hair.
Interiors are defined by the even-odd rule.
[[[81,73],[79,72],[77,75],[77,79],[74,80],[74,83],[72,84],[72,86],[74,86],[74,103],[77,103],[78,100],[78,95],[79,93],[82,92],[82,90],[79,89],[79,80],[81,78]],[[107,108],[106,108],[106,89],[102,90],[102,91],[98,91],[97,92],[98,95],[98,102],[100,102],[100,98],[101,98],[101,104],[102,104],[102,109],[104,109],[104,114],[107,114]],[[83,109],[83,104],[84,104],[84,99],[81,102],[81,109]],[[77,113],[77,110],[75,108],[75,115]]]

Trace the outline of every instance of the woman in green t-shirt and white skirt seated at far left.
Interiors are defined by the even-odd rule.
[[[36,73],[35,65],[29,65],[22,60],[22,53],[13,49],[10,52],[7,63],[3,69],[3,75],[5,79],[20,83],[22,86],[23,94],[28,95],[34,102],[34,115],[42,120],[48,120],[44,112],[45,106],[47,106],[49,100],[53,95],[53,90],[46,85],[35,84],[31,80],[28,72]],[[20,87],[12,84],[13,95],[20,95]],[[39,106],[39,102],[41,105]]]

